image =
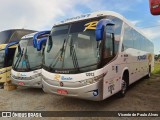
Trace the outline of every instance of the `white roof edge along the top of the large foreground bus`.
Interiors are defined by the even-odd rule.
[[[65,19],[63,21],[60,21],[60,22],[54,24],[54,26],[63,25],[63,24],[66,24],[66,23],[72,23],[72,22],[76,22],[76,21],[80,21],[80,20],[86,20],[86,19],[91,19],[91,18],[96,18],[96,17],[102,17],[102,16],[104,16],[104,17],[105,16],[117,17],[117,18],[121,19],[122,21],[124,21],[125,23],[127,23],[132,28],[134,28],[140,34],[145,36],[142,31],[140,31],[139,29],[135,28],[135,26],[130,21],[128,21],[124,16],[120,15],[119,13],[113,12],[113,11],[98,11],[98,12],[83,14],[83,15],[80,15],[80,16],[76,16],[76,17],[72,17],[72,18],[68,18],[68,19]]]

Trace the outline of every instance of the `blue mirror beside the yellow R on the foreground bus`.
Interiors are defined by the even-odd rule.
[[[106,26],[113,26],[113,25],[114,25],[114,22],[109,19],[100,20],[95,30],[96,40],[101,41],[103,39],[104,29],[106,28]]]

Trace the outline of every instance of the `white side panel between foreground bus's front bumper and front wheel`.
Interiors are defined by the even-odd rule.
[[[120,56],[115,57],[112,62],[104,67],[104,73],[106,72],[106,75],[103,80],[103,99],[120,91],[121,73],[123,70],[123,66],[120,64],[122,63]]]

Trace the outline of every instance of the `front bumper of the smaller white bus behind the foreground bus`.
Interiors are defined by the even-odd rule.
[[[32,87],[32,88],[42,88],[42,77],[38,76],[31,80],[15,79],[11,76],[11,81],[13,84],[18,86]]]

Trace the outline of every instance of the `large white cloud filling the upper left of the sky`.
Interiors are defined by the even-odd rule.
[[[84,0],[3,0],[0,4],[0,30],[28,28],[39,30],[54,24],[58,17],[80,14],[75,6]]]

